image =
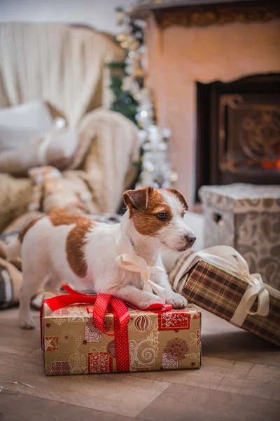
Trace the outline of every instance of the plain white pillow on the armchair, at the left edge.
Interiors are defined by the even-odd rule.
[[[52,130],[53,119],[45,102],[34,101],[15,107],[0,108],[0,126],[32,128],[46,133]]]

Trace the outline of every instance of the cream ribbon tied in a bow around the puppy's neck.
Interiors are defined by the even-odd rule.
[[[165,272],[165,269],[157,265],[148,266],[146,260],[135,253],[132,241],[127,238],[125,233],[124,225],[127,219],[127,215],[123,215],[123,220],[116,229],[115,241],[120,254],[115,258],[115,262],[125,270],[139,272],[141,279],[144,281],[143,289],[151,293],[154,291],[162,300],[165,300],[165,288],[150,279],[150,274]]]

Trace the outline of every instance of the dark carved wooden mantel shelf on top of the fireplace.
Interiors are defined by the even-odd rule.
[[[145,18],[151,13],[160,28],[171,25],[191,27],[230,22],[265,22],[280,18],[280,1],[151,0],[143,1],[130,15],[132,18]]]

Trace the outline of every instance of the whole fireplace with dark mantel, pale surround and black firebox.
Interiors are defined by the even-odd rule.
[[[276,146],[267,150],[274,140],[269,135],[268,143],[260,142],[265,129],[256,123],[258,139],[253,142],[250,126],[265,114],[270,122],[279,120],[274,108],[272,112],[280,93],[279,0],[145,0],[132,15],[144,17],[148,25],[145,85],[158,125],[172,132],[176,188],[189,206],[195,205],[201,185],[279,183]],[[257,114],[247,116],[250,112]],[[232,135],[238,125],[243,127],[243,149],[239,136]]]

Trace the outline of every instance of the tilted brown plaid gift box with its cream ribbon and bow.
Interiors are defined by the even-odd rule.
[[[184,253],[169,280],[191,302],[280,346],[280,292],[250,274],[234,248]]]

